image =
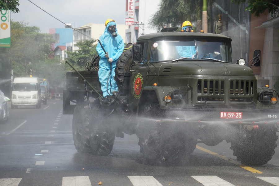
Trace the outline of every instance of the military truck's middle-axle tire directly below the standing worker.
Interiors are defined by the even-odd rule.
[[[101,106],[99,100],[95,100],[91,105],[92,123],[90,125],[90,147],[91,154],[106,156],[110,154],[113,149],[115,132],[113,127],[107,123],[106,114],[108,110],[105,109],[107,106]],[[107,112],[108,111],[108,112]],[[109,117],[109,116],[108,116]]]

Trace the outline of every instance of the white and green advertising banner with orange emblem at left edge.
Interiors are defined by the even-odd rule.
[[[0,47],[11,48],[11,11],[0,11]]]

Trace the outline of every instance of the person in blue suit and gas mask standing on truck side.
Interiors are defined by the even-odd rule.
[[[108,96],[112,95],[113,91],[118,90],[116,81],[113,78],[115,76],[114,69],[124,49],[124,42],[117,32],[115,21],[113,19],[107,19],[105,21],[105,26],[104,33],[100,36],[99,40],[107,54],[105,54],[100,43],[98,43],[96,47],[100,56],[98,74],[105,98],[104,101],[108,99]]]

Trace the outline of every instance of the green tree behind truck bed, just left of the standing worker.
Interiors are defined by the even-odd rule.
[[[78,41],[76,43],[79,48],[77,51],[67,51],[69,62],[72,63],[74,67],[76,66],[78,70],[84,70],[83,59],[88,55],[98,55],[96,51],[97,43],[94,44],[95,42],[95,40]]]

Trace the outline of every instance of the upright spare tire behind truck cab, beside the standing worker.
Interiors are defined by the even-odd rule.
[[[115,80],[118,86],[118,89],[121,87],[124,80],[124,72],[130,71],[132,66],[132,48],[125,50],[118,61],[116,62],[115,67]]]

